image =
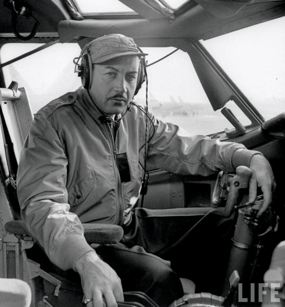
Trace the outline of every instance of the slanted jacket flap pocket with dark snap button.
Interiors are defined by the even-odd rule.
[[[93,171],[80,179],[75,185],[68,189],[68,204],[71,207],[80,204],[94,188],[96,177]]]

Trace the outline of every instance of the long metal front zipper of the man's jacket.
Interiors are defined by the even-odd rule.
[[[115,137],[112,128],[110,127],[109,124],[107,124],[110,134],[111,134],[111,139],[112,139],[112,150],[113,150],[113,165],[114,165],[114,170],[115,170],[115,178],[117,180],[117,190],[118,190],[118,202],[119,202],[119,214],[117,218],[117,225],[122,225],[123,223],[123,196],[122,196],[122,186],[121,186],[121,178],[119,174],[119,169],[118,169],[118,164],[117,164],[117,151],[116,151],[116,138],[117,138],[117,133],[118,130],[116,130]]]

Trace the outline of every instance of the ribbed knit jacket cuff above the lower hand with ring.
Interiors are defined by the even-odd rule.
[[[68,233],[64,235],[64,240],[52,249],[50,258],[62,270],[75,270],[75,262],[89,251],[95,252],[83,235]]]

